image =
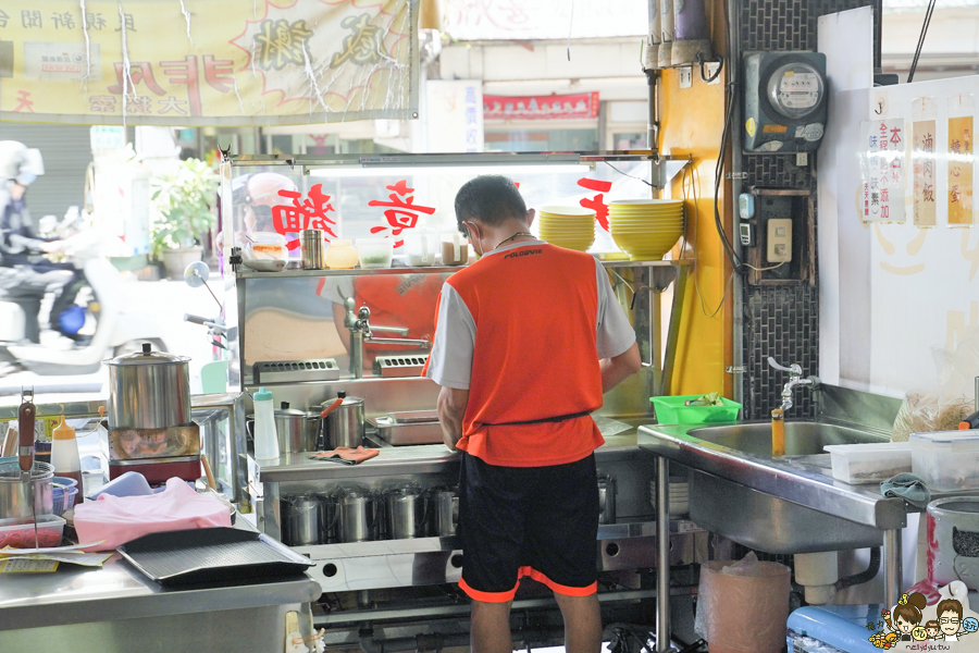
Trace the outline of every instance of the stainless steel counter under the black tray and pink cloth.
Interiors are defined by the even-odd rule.
[[[286,613],[303,614],[320,592],[306,575],[164,590],[117,554],[102,568],[7,574],[0,651],[282,651]]]

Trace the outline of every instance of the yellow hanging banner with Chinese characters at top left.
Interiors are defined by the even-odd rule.
[[[417,2],[13,0],[0,9],[0,120],[417,118]]]

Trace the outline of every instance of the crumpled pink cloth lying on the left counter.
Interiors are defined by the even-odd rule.
[[[112,551],[149,533],[231,526],[227,506],[212,496],[194,491],[186,481],[172,478],[166,489],[147,496],[112,496],[75,506],[78,542],[101,544],[85,551]]]

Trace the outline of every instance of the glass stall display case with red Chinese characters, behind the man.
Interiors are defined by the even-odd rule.
[[[410,267],[409,261],[423,260],[417,252],[409,256],[412,234],[424,231],[449,241],[458,233],[458,189],[476,175],[501,174],[519,186],[528,208],[595,211],[595,238],[587,251],[614,269],[609,279],[636,329],[650,368],[644,383],[655,394],[668,385],[664,372],[671,368],[671,353],[662,352],[664,341],[671,338],[656,334],[669,332],[673,320],[679,326],[687,266],[684,260],[630,261],[609,234],[608,206],[658,197],[684,163],[649,151],[227,157],[222,164],[222,266],[226,320],[238,326],[236,342],[228,344],[234,359],[230,382],[248,390],[270,379],[370,379],[392,371],[385,368],[392,358],[423,359],[442,285],[459,268],[444,266],[441,251],[432,264]],[[320,230],[324,247],[338,241],[354,246],[387,241],[391,267],[303,269],[303,230]],[[540,234],[536,224],[532,231]],[[286,238],[288,262],[282,271],[256,270],[233,258],[256,234],[270,232]],[[469,254],[471,263],[474,252]],[[671,286],[678,291],[677,308],[664,316],[660,295]],[[363,307],[369,308],[373,337],[361,344],[350,324]],[[282,366],[295,373],[270,372]],[[267,371],[264,378],[260,370]],[[633,402],[630,412],[648,412],[647,398],[643,402]]]

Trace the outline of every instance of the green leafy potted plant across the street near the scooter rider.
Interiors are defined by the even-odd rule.
[[[218,175],[199,159],[181,161],[173,172],[154,177],[150,245],[171,276],[179,278],[200,260],[201,239],[216,222],[211,212],[216,195]]]

